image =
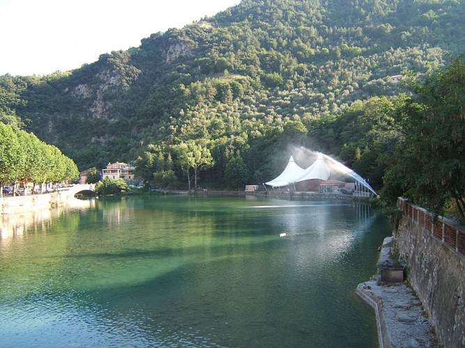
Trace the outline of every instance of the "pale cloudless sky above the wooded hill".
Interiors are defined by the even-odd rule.
[[[0,75],[80,68],[240,0],[0,0]]]

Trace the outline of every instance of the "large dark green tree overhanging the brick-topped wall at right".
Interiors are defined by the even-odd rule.
[[[386,177],[386,190],[397,187],[417,204],[436,213],[448,199],[461,219],[465,210],[465,64],[457,58],[424,84],[406,106],[404,139]]]

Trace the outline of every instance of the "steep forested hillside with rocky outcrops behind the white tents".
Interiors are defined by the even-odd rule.
[[[162,187],[259,184],[303,146],[379,189],[411,93],[391,77],[465,52],[464,18],[460,0],[243,0],[70,72],[0,77],[0,113],[81,170],[136,161]]]

